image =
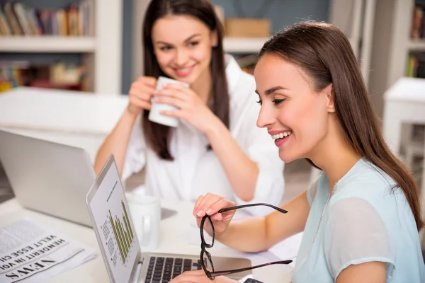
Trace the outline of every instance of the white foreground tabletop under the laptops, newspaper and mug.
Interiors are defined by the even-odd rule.
[[[188,229],[191,229],[191,223],[194,221],[191,214],[193,203],[162,200],[162,207],[175,209],[178,213],[171,216],[169,219],[161,221],[162,236],[159,241],[159,248],[154,251],[159,253],[199,255],[199,246],[190,245],[181,238],[181,235],[186,233]],[[64,221],[62,219],[57,219],[46,214],[40,214],[28,209],[23,209],[16,199],[8,200],[0,204],[0,226],[5,226],[23,217],[30,217],[30,219],[33,219],[42,225],[50,226],[52,229],[60,231],[60,233],[63,233],[76,241],[96,248],[98,252],[98,257],[95,260],[86,262],[84,265],[80,265],[79,267],[57,275],[56,277],[52,277],[46,282],[108,282],[108,274],[103,264],[93,229],[73,224],[72,222]],[[220,249],[219,253],[220,256],[240,256],[240,253],[230,248],[226,250]],[[253,264],[260,263],[263,262],[253,262]],[[254,270],[253,273],[256,279],[268,283],[287,283],[290,282],[291,277],[290,274],[283,272],[279,268],[279,265],[261,267]]]

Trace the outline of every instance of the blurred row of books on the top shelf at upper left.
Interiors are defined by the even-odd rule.
[[[94,1],[55,9],[35,9],[22,2],[1,4],[0,36],[25,35],[93,36]]]

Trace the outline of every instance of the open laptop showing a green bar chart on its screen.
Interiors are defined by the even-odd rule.
[[[169,282],[186,270],[201,270],[199,255],[143,252],[139,246],[113,155],[86,197],[103,262],[111,282]],[[190,217],[190,215],[188,215]],[[251,266],[244,258],[213,258],[215,270]],[[240,279],[251,271],[239,272]]]

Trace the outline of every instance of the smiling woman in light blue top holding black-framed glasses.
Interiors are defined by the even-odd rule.
[[[259,57],[257,125],[275,139],[280,159],[307,158],[323,173],[282,207],[286,214],[229,223],[234,209],[219,210],[233,202],[200,196],[193,209],[198,224],[204,219],[205,231],[211,234],[212,224],[218,241],[246,252],[304,231],[294,283],[425,282],[419,190],[385,144],[344,34],[325,23],[299,23],[271,37]],[[171,282],[210,282],[205,273]]]

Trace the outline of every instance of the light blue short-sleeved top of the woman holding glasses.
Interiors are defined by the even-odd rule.
[[[323,173],[307,190],[311,210],[293,282],[335,282],[348,265],[373,261],[387,262],[387,282],[425,282],[414,216],[402,190],[391,189],[394,184],[363,158],[329,198]]]

